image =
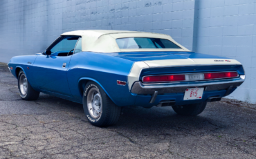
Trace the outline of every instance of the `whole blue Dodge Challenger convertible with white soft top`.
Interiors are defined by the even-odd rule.
[[[122,106],[198,115],[245,80],[237,60],[194,53],[151,32],[65,32],[43,53],[12,57],[8,66],[22,100],[43,92],[81,103],[98,127],[118,122]]]

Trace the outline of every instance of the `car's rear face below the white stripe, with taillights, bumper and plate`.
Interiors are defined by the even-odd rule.
[[[145,68],[131,86],[138,106],[214,102],[229,95],[245,79],[241,65]]]

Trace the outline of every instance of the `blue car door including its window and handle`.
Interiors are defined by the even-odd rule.
[[[51,55],[38,55],[33,64],[33,79],[41,91],[72,96],[68,87],[66,72],[73,49],[79,37],[62,36],[46,50],[51,50]]]

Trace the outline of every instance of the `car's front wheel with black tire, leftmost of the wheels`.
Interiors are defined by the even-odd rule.
[[[26,78],[26,93],[25,91],[22,91],[21,88],[22,86],[22,79],[21,78]],[[23,80],[24,81],[24,80]],[[23,83],[24,85],[24,83]],[[19,88],[19,95],[21,96],[22,100],[37,100],[37,98],[39,97],[40,92],[35,91],[32,86],[30,86],[30,83],[28,82],[28,79],[26,77],[26,74],[24,73],[24,71],[19,71],[19,76],[18,76],[18,88]]]

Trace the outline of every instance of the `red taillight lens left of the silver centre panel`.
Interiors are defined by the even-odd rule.
[[[143,77],[143,82],[185,81],[185,75],[156,75]]]

